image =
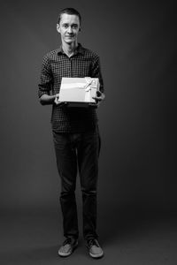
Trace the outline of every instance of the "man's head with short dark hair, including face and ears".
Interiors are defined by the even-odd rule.
[[[77,42],[77,36],[81,30],[81,15],[73,8],[65,8],[60,11],[57,24],[58,33],[62,42],[71,44]]]

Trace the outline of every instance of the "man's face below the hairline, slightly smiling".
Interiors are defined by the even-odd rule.
[[[71,44],[77,42],[77,36],[80,31],[80,19],[76,15],[62,14],[59,24],[57,24],[58,33],[61,34],[62,42]]]

